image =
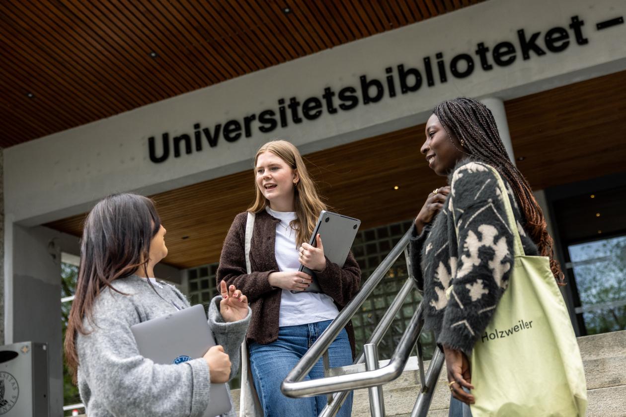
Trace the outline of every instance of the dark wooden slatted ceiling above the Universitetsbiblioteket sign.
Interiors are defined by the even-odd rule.
[[[480,1],[1,1],[0,148]]]

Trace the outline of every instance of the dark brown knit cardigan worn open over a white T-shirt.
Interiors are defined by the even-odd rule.
[[[252,308],[252,318],[248,329],[248,341],[267,344],[278,338],[280,296],[282,289],[272,287],[268,276],[278,272],[278,264],[274,255],[276,224],[279,219],[270,216],[263,210],[256,214],[252,241],[250,242],[250,266],[252,273],[247,274],[245,268],[245,223],[247,213],[235,216],[224,245],[220,265],[217,269],[217,288],[225,279],[245,294]],[[350,253],[343,267],[332,263],[326,258],[326,269],[316,273],[317,281],[324,294],[332,297],[337,308],[341,310],[359,291],[361,269]],[[352,356],[354,357],[354,329],[352,323],[346,326]]]

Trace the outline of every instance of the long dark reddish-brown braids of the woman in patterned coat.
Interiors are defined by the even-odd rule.
[[[525,230],[541,256],[550,258],[557,284],[564,285],[563,272],[554,259],[553,240],[545,218],[526,178],[511,162],[491,111],[475,99],[459,97],[439,103],[433,110],[448,136],[461,143],[463,153],[493,166],[508,181],[526,219]]]

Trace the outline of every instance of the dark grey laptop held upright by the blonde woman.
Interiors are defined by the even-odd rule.
[[[351,218],[348,216],[342,216],[342,214],[332,213],[332,211],[322,210],[317,219],[317,224],[311,236],[309,244],[316,245],[316,236],[319,233],[322,238],[322,244],[324,245],[324,255],[332,263],[336,263],[339,266],[344,266],[346,258],[354,243],[354,237],[359,231],[361,226],[361,220]],[[307,293],[321,293],[319,288],[315,272],[306,268],[304,265],[300,265],[299,271],[303,271],[313,277],[313,282],[309,288],[305,289]],[[302,291],[291,291],[292,293],[302,293]]]

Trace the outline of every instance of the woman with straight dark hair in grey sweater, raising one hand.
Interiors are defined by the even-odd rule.
[[[135,194],[103,199],[85,221],[65,352],[90,417],[202,416],[210,383],[237,373],[251,312],[233,285],[223,284],[210,303],[218,346],[202,358],[164,365],[139,353],[133,324],[189,307],[177,288],[154,278],[167,255],[165,233],[153,202]]]

